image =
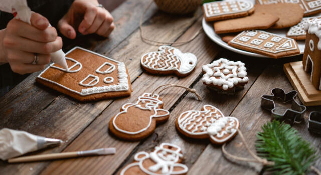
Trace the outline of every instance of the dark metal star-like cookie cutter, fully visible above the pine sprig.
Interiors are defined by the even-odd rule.
[[[273,116],[280,120],[288,119],[291,121],[291,125],[294,122],[300,122],[303,120],[303,113],[306,110],[304,105],[300,105],[295,96],[297,91],[293,90],[288,93],[281,88],[273,88],[271,90],[272,95],[262,95],[261,107],[267,110],[271,110]],[[278,113],[274,103],[274,99],[280,99],[284,104],[292,102],[291,108],[287,108],[283,113]]]

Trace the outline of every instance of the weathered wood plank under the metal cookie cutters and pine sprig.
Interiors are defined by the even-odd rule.
[[[261,126],[272,118],[269,111],[261,109],[260,96],[270,94],[270,90],[275,87],[283,88],[286,92],[293,90],[282,71],[282,66],[269,66],[266,68],[231,114],[231,116],[239,119],[240,130],[243,132],[250,149],[254,152],[257,131],[260,131]],[[306,115],[308,115],[307,112],[305,113]],[[298,129],[302,136],[311,141],[317,149],[320,149],[320,138],[310,134],[306,126],[307,123],[303,122],[295,124],[294,128]],[[239,136],[236,136],[226,146],[226,149],[233,155],[251,158]],[[216,155],[214,156],[215,160],[213,160],[213,155]],[[209,159],[211,161],[208,161]],[[317,167],[320,168],[320,160],[317,162]],[[246,163],[227,160],[221,153],[221,147],[208,145],[192,166],[189,174],[195,174],[201,170],[202,174],[256,174],[257,172],[253,168],[257,172],[261,170],[261,166],[258,164],[251,163],[247,165]],[[215,171],[213,172],[213,170]]]

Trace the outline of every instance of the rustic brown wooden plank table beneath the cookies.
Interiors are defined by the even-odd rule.
[[[257,174],[263,171],[259,164],[225,158],[221,146],[215,146],[209,140],[194,140],[182,136],[175,129],[175,119],[186,110],[201,109],[204,104],[214,105],[226,116],[239,119],[240,129],[250,148],[255,151],[257,131],[271,120],[269,111],[260,108],[260,96],[270,94],[274,87],[284,88],[286,91],[293,90],[282,66],[285,62],[300,60],[302,56],[280,60],[247,57],[219,47],[202,31],[192,42],[177,47],[198,57],[196,69],[192,74],[185,78],[148,74],[140,67],[140,57],[158,48],[142,42],[140,38],[139,19],[148,2],[127,0],[114,10],[112,15],[115,18],[116,29],[109,39],[88,36],[64,42],[64,51],[81,46],[124,62],[132,83],[133,92],[130,97],[81,103],[35,83],[39,74],[37,72],[0,98],[0,128],[19,129],[66,141],[59,147],[38,151],[37,154],[102,147],[116,147],[117,153],[113,156],[22,164],[1,161],[0,174],[117,174],[121,168],[133,161],[135,153],[151,151],[162,142],[173,143],[183,148],[183,163],[189,167],[188,174]],[[192,15],[173,16],[159,11],[153,4],[144,18],[146,35],[162,41],[187,40],[202,27],[201,8]],[[217,95],[216,92],[208,90],[200,80],[201,66],[220,57],[241,60],[247,67],[249,83],[244,90],[233,96]],[[165,83],[194,88],[203,101],[197,101],[193,94],[183,89],[168,89],[161,96],[164,108],[171,112],[171,116],[167,122],[158,125],[147,139],[137,142],[123,141],[108,131],[109,120],[119,112],[122,104],[134,102],[144,92],[152,92]],[[313,110],[321,111],[321,107],[308,107],[304,117],[307,118]],[[320,136],[308,131],[307,119],[293,127],[320,150]],[[234,155],[250,158],[238,135],[226,148]],[[315,166],[321,169],[321,159],[318,159]]]

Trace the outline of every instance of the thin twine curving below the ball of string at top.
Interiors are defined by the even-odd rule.
[[[176,46],[178,45],[183,45],[183,44],[186,44],[186,43],[189,43],[191,42],[193,39],[196,38],[196,36],[198,34],[200,34],[200,31],[202,30],[202,28],[200,28],[192,38],[190,38],[189,40],[187,41],[182,41],[182,42],[161,42],[161,41],[155,41],[155,40],[151,40],[151,39],[148,39],[144,33],[143,33],[143,27],[142,27],[142,22],[143,22],[143,19],[144,19],[144,16],[147,12],[147,10],[149,9],[149,7],[151,6],[151,4],[153,3],[153,1],[151,0],[150,3],[148,4],[148,6],[146,7],[144,13],[142,14],[142,16],[140,17],[140,21],[139,21],[139,28],[140,28],[140,37],[142,39],[142,41],[144,41],[145,43],[147,44],[151,44],[151,45],[156,45],[156,46],[160,46],[160,45],[171,45],[171,44],[174,44]]]

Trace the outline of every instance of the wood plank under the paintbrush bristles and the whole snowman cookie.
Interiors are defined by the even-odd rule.
[[[200,22],[199,20],[198,22]],[[193,27],[201,27],[199,23]],[[191,37],[189,32],[184,33],[182,38]],[[134,89],[130,98],[123,98],[115,100],[90,126],[88,126],[64,151],[72,150],[85,150],[96,147],[116,147],[117,153],[114,156],[103,156],[86,159],[70,159],[61,160],[51,163],[44,171],[43,174],[59,174],[61,172],[68,173],[91,173],[99,174],[112,174],[117,167],[126,159],[139,142],[128,142],[115,138],[114,135],[108,131],[109,120],[119,112],[121,105],[128,102],[134,102],[138,96],[144,92],[152,92],[153,89],[165,83],[181,84],[184,86],[191,85],[201,73],[201,66],[213,60],[217,53],[217,47],[210,41],[203,33],[200,34],[191,43],[180,47],[183,52],[189,51],[199,58],[197,67],[192,74],[185,78],[177,78],[176,76],[155,76],[148,73],[143,73],[134,83]],[[138,90],[139,89],[139,90]],[[164,108],[170,109],[171,106],[180,98],[184,93],[183,89],[170,89],[173,93],[162,95]],[[165,93],[164,93],[165,94]],[[192,97],[193,98],[193,97]],[[195,98],[195,97],[194,97]],[[152,135],[151,137],[154,137]],[[95,164],[95,166],[91,166]],[[59,167],[59,168],[58,168]]]

